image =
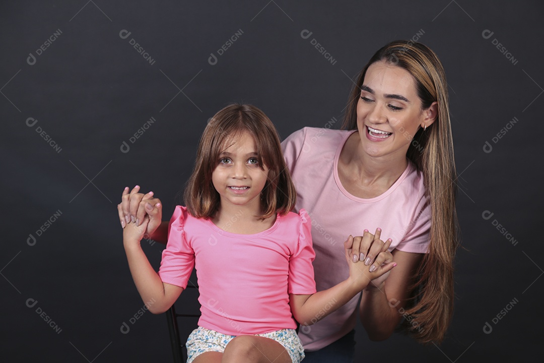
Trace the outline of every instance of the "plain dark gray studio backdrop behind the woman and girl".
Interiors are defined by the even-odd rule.
[[[2,1],[0,361],[170,361],[165,318],[141,310],[128,270],[122,188],[153,190],[168,219],[206,121],[228,102],[262,108],[282,139],[304,126],[338,128],[351,79],[400,38],[429,45],[446,68],[465,249],[443,344],[369,342],[359,325],[357,359],[540,354],[542,9]],[[158,268],[161,245],[143,244]]]

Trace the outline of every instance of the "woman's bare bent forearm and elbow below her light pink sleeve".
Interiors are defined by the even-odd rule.
[[[361,322],[373,341],[385,340],[393,334],[403,317],[401,312],[410,295],[409,287],[415,282],[417,267],[423,259],[423,254],[418,253],[394,250],[392,254],[397,267],[378,286],[369,284],[361,298]]]

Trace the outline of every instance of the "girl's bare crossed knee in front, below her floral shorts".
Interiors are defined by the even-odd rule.
[[[287,350],[273,339],[239,335],[227,344],[221,362],[292,363],[292,360]]]

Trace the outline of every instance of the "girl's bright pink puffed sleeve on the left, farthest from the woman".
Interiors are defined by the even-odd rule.
[[[176,206],[168,225],[168,243],[163,250],[159,268],[160,280],[182,288],[187,287],[195,266],[194,250],[183,231],[183,220],[186,214],[185,207]]]

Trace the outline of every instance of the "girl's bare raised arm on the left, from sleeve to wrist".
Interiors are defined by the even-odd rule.
[[[144,218],[140,226],[133,222],[126,224],[123,229],[123,245],[127,254],[128,267],[142,300],[149,311],[159,314],[174,304],[183,288],[163,283],[141,249],[140,241],[148,223],[149,218]]]

